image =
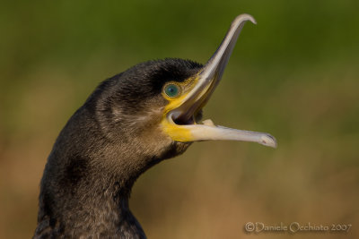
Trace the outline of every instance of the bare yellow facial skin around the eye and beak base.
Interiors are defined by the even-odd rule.
[[[196,85],[198,78],[188,78],[186,81],[183,82],[169,82],[168,84],[176,84],[181,88],[181,94],[179,97],[171,98],[167,96],[164,91],[162,90],[163,98],[166,98],[169,101],[169,104],[164,107],[163,110],[163,118],[162,118],[162,130],[167,135],[171,137],[172,141],[180,141],[180,142],[188,142],[193,141],[194,138],[192,133],[186,127],[186,125],[179,125],[175,124],[172,119],[169,117],[169,113],[171,110],[180,107],[183,102],[185,102],[186,97],[188,96],[189,92],[193,89]],[[166,85],[165,85],[166,86]]]

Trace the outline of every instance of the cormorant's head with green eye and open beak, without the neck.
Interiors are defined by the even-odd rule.
[[[193,141],[254,141],[276,147],[267,133],[230,129],[212,120],[200,123],[246,21],[256,23],[248,14],[238,16],[205,65],[173,58],[150,61],[104,81],[97,107],[102,129],[144,152],[161,152],[161,158],[180,154]]]

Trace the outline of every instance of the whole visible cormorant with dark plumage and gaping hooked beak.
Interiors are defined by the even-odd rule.
[[[136,178],[193,141],[255,141],[270,134],[198,124],[248,14],[238,16],[205,64],[168,58],[137,64],[101,84],[67,122],[40,184],[34,238],[145,238],[128,209]]]

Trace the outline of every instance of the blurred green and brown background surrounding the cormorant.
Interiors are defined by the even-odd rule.
[[[149,238],[247,235],[246,222],[352,224],[359,238],[358,1],[6,1],[0,8],[0,238],[29,238],[58,132],[96,85],[154,58],[205,63],[250,13],[206,107],[279,146],[200,142],[137,181]]]

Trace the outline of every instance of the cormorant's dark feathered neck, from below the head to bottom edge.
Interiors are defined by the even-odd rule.
[[[128,199],[137,177],[166,157],[110,133],[84,107],[60,132],[41,181],[35,238],[145,238]]]

